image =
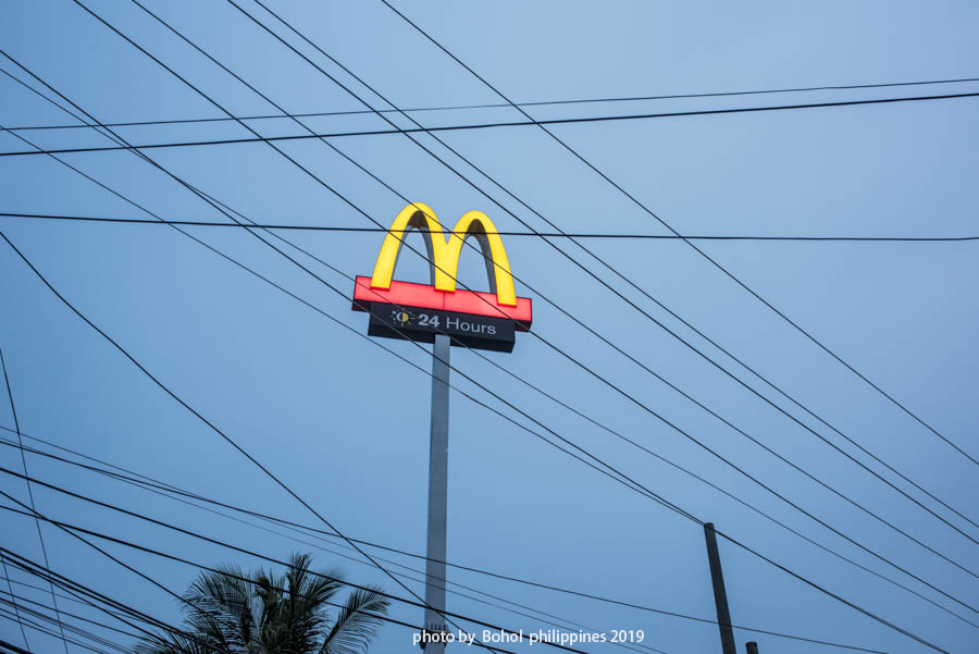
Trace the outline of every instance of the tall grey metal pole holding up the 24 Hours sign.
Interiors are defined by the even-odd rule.
[[[429,542],[425,563],[425,630],[446,631],[445,559],[446,496],[448,491],[448,380],[449,337],[435,334],[432,345],[432,437],[429,451]],[[444,642],[425,646],[427,654],[443,654]]]

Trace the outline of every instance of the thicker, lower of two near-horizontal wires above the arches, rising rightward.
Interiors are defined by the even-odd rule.
[[[864,104],[892,104],[895,102],[918,102],[918,101],[927,101],[927,100],[952,100],[956,98],[976,98],[979,97],[979,92],[968,92],[968,94],[945,94],[940,96],[916,96],[916,97],[905,97],[905,98],[876,98],[872,100],[843,100],[838,102],[809,102],[804,104],[779,104],[773,107],[742,107],[738,109],[701,109],[697,111],[671,111],[671,112],[660,112],[660,113],[641,113],[641,114],[618,114],[618,115],[596,115],[596,116],[586,116],[586,118],[573,118],[573,119],[547,119],[542,121],[528,120],[528,121],[512,121],[512,122],[495,122],[495,123],[479,123],[479,124],[466,124],[466,125],[442,125],[442,126],[432,126],[432,127],[409,127],[409,128],[395,128],[395,129],[359,129],[352,132],[327,132],[321,134],[290,134],[285,136],[262,136],[262,137],[241,137],[241,138],[215,138],[215,139],[207,139],[207,140],[178,140],[178,141],[168,141],[168,143],[148,143],[148,144],[138,144],[133,146],[102,146],[102,147],[89,147],[89,148],[58,148],[58,149],[46,149],[41,152],[36,152],[33,150],[17,150],[13,152],[0,152],[0,157],[27,157],[30,155],[67,155],[67,153],[78,153],[78,152],[112,152],[116,150],[126,150],[128,148],[135,148],[137,150],[150,150],[158,148],[190,148],[190,147],[202,147],[202,146],[227,146],[227,145],[240,145],[240,144],[249,144],[249,143],[263,143],[263,141],[286,141],[286,140],[308,140],[311,138],[342,138],[349,136],[383,136],[388,134],[420,134],[425,133],[430,134],[433,132],[462,132],[462,131],[473,131],[473,129],[488,129],[496,127],[529,127],[529,126],[543,126],[543,125],[570,125],[570,124],[580,124],[580,123],[607,123],[607,122],[620,122],[620,121],[637,121],[637,120],[650,120],[650,119],[666,119],[666,118],[680,118],[680,116],[694,116],[694,115],[718,115],[718,114],[731,114],[731,113],[754,113],[754,112],[770,112],[770,111],[791,111],[798,109],[826,109],[830,107],[857,107]],[[295,118],[289,114],[287,118]],[[234,119],[231,119],[234,120]],[[238,119],[239,123],[246,119]],[[108,125],[99,124],[99,127],[108,127]]]

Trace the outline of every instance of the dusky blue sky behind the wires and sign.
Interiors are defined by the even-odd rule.
[[[277,111],[137,4],[83,2],[234,115]],[[148,0],[145,5],[288,112],[364,109],[355,95],[372,108],[389,108],[252,0],[235,2],[322,70],[228,2]],[[970,2],[393,4],[517,102],[979,75],[979,8]],[[377,0],[269,7],[399,108],[501,102]],[[2,3],[0,45],[102,123],[225,115],[74,1]],[[0,58],[0,69],[53,95],[10,59]],[[977,83],[946,84],[528,111],[544,120],[976,90]],[[979,208],[977,108],[976,98],[962,98],[568,124],[553,132],[682,234],[968,236],[977,234]],[[416,118],[425,126],[521,120],[512,108],[423,112]],[[409,125],[404,116],[391,120]],[[303,121],[329,133],[387,127],[373,114]],[[2,127],[76,123],[0,75]],[[263,136],[301,132],[289,120],[250,125]],[[136,144],[250,136],[231,122],[123,127],[119,134]],[[47,149],[112,145],[87,128],[4,131],[0,152],[35,149],[17,135]],[[263,143],[147,153],[162,169],[260,223],[364,227],[372,226],[370,217],[387,226],[408,198],[429,205],[449,224],[480,210],[500,231],[524,231],[515,215],[533,230],[553,231],[540,214],[566,232],[668,233],[537,127],[439,135],[509,193],[431,135],[417,138],[461,176],[397,134],[331,139],[388,187],[313,139],[278,144],[309,174]],[[151,218],[124,196],[168,220],[227,222],[133,152],[59,157],[120,195],[49,156],[0,157],[0,212]],[[78,311],[332,525],[350,538],[424,553],[431,385],[424,371],[431,355],[427,346],[367,337],[368,319],[350,310],[352,282],[344,276],[371,273],[383,234],[280,232],[308,254],[284,249],[342,292],[335,293],[243,230],[187,230],[307,305],[168,226],[0,217],[0,231]],[[412,235],[408,243],[420,248],[422,240]],[[979,528],[969,522],[979,520],[976,464],[683,242],[590,239],[585,245],[594,258],[562,240],[555,245],[567,256],[536,237],[505,237],[505,245],[518,295],[533,300],[533,332],[518,334],[511,354],[453,349],[457,370],[451,383],[503,417],[453,392],[450,562],[716,618],[702,527],[515,424],[554,439],[531,416],[770,559],[720,541],[735,625],[875,651],[933,651],[789,569],[944,651],[976,651],[979,627],[971,607],[979,604]],[[697,242],[697,247],[937,432],[979,457],[976,242]],[[486,288],[476,255],[464,252],[459,270],[461,283]],[[59,452],[55,446],[69,447],[207,497],[323,527],[72,312],[5,243],[0,244],[0,348],[20,429],[49,443],[25,439],[25,444],[51,453]],[[426,283],[427,264],[405,251],[395,276]],[[690,325],[826,422],[779,395]],[[14,428],[5,402],[0,402],[0,427]],[[961,515],[885,469],[840,432]],[[10,431],[2,437],[16,440]],[[406,595],[335,539],[321,542],[307,535],[306,542],[297,542],[51,458],[30,453],[25,458],[32,478],[83,497],[275,559],[310,552],[318,567],[338,566],[351,581]],[[22,464],[17,449],[0,447],[5,470],[23,473]],[[9,472],[0,490],[28,502],[23,479]],[[246,569],[268,565],[50,489],[35,485],[33,494],[41,515],[196,563]],[[4,506],[11,505],[4,499]],[[2,525],[0,545],[41,560],[32,519],[4,511]],[[159,619],[179,621],[178,603],[160,588],[57,527],[41,525],[41,532],[52,569]],[[100,546],[175,592],[197,575],[188,565],[121,544]],[[392,570],[405,571],[396,565],[423,569],[418,559],[372,552],[393,562],[386,564]],[[37,582],[23,572],[9,573],[14,582]],[[407,573],[413,579],[405,583],[421,593],[418,573]],[[670,654],[719,650],[717,627],[709,622],[460,569],[450,569],[449,581],[495,595],[480,601],[448,596],[449,610],[494,625],[524,632],[550,628],[538,614],[530,615],[525,607],[531,607],[573,622],[572,630],[643,630],[641,645]],[[13,588],[23,597],[50,601],[44,590],[16,583]],[[507,606],[528,615],[500,608],[500,599],[524,605]],[[106,618],[76,603],[59,604],[85,617]],[[421,614],[404,604],[391,609],[392,617],[411,624],[421,624]],[[50,636],[29,628],[26,633],[33,652],[62,651]],[[99,633],[132,644],[117,633]],[[387,625],[373,651],[411,651],[411,629]],[[4,617],[0,639],[24,644],[17,626]],[[735,630],[735,640],[740,652],[751,640],[763,652],[844,651],[742,629]],[[529,652],[541,645],[508,646]],[[77,645],[69,649],[84,652]],[[455,652],[463,649],[449,646]],[[610,644],[583,649],[620,650]]]

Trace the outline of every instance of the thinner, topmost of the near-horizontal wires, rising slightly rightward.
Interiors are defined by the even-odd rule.
[[[0,71],[5,72],[5,71]],[[9,73],[8,73],[9,75]],[[517,107],[555,107],[562,104],[597,104],[597,103],[607,103],[607,102],[642,102],[642,101],[653,101],[653,100],[678,100],[678,99],[692,99],[692,98],[720,98],[720,97],[735,97],[735,96],[755,96],[755,95],[769,95],[769,94],[794,94],[794,92],[807,92],[807,91],[820,91],[820,90],[854,90],[854,89],[867,89],[867,88],[895,88],[895,87],[904,87],[904,86],[926,86],[926,85],[939,85],[939,84],[964,84],[968,82],[979,82],[979,77],[961,77],[957,79],[928,79],[924,82],[888,82],[880,84],[846,84],[846,85],[834,85],[834,86],[807,86],[807,87],[790,87],[790,88],[769,88],[769,89],[756,89],[756,90],[740,90],[740,91],[720,91],[720,92],[699,92],[699,94],[674,94],[667,96],[622,96],[622,97],[609,97],[609,98],[577,98],[577,99],[563,99],[563,100],[537,100],[532,102],[517,102]],[[496,103],[485,103],[485,104],[454,104],[448,107],[414,107],[411,109],[380,109],[377,112],[380,113],[422,113],[422,112],[433,112],[433,111],[460,111],[460,110],[469,110],[469,109],[499,109],[499,108],[510,108],[510,104],[504,102]],[[129,121],[129,122],[121,122],[121,123],[103,123],[104,127],[138,127],[138,126],[151,126],[151,125],[184,125],[184,124],[194,124],[194,123],[226,123],[231,121],[261,121],[261,120],[281,120],[281,119],[289,119],[289,118],[325,118],[325,116],[336,116],[336,115],[364,115],[364,114],[373,114],[374,111],[364,110],[364,109],[355,109],[349,111],[314,111],[308,113],[272,113],[272,114],[259,114],[259,115],[241,115],[233,119],[230,118],[197,118],[197,119],[171,119],[171,120],[156,120],[156,121]],[[12,132],[28,132],[28,131],[41,131],[41,129],[87,129],[91,128],[89,125],[20,125],[16,127],[8,127],[8,129]]]

